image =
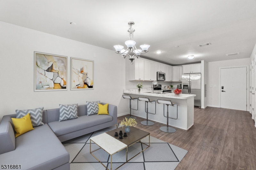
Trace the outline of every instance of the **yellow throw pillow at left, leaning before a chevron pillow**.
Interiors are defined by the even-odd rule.
[[[16,131],[15,137],[34,129],[29,113],[22,118],[12,118],[12,123]]]

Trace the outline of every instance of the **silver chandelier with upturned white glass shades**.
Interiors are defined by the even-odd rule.
[[[135,31],[135,29],[132,28],[132,26],[134,25],[133,21],[128,22],[129,25],[129,29],[128,29],[128,37],[129,40],[125,41],[124,44],[127,46],[127,49],[123,49],[124,46],[121,45],[115,45],[114,48],[116,49],[116,53],[122,55],[124,58],[129,56],[129,60],[131,60],[131,64],[133,64],[133,60],[135,59],[135,57],[140,57],[140,54],[145,54],[148,52],[148,48],[150,47],[150,45],[144,44],[144,45],[140,45],[141,49],[137,49],[135,44],[136,42],[133,41],[133,33]]]

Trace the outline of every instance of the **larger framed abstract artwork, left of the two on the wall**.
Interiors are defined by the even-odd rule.
[[[34,52],[34,91],[67,90],[67,57]]]

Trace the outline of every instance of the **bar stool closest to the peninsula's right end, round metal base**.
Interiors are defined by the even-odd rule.
[[[170,119],[175,119],[175,118],[172,118],[172,117],[169,117],[169,105],[171,105],[172,107],[174,106],[177,106],[177,118],[175,120],[178,119],[178,104],[177,103],[172,103],[171,100],[163,100],[163,99],[157,99],[157,103],[161,104],[165,104],[167,106],[167,116],[164,115],[164,117],[167,117],[167,126],[162,126],[160,128],[160,130],[162,130],[163,132],[166,132],[166,133],[174,133],[176,132],[176,130],[172,127],[169,127],[169,118]]]

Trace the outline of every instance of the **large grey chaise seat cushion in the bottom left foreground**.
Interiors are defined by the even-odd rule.
[[[47,124],[17,137],[15,150],[0,155],[1,165],[29,170],[52,170],[68,162],[69,153]]]

